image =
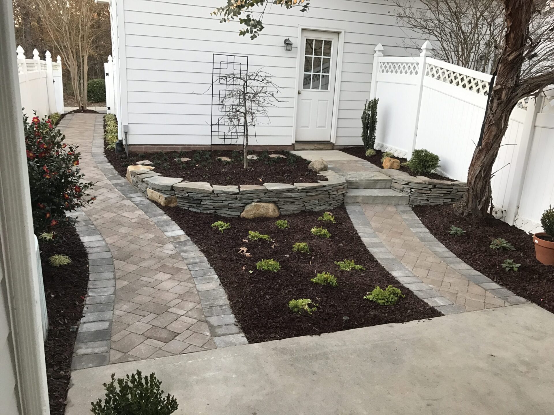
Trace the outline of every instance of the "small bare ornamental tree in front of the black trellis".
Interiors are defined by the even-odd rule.
[[[258,119],[265,117],[269,121],[268,109],[275,107],[279,100],[279,87],[271,81],[271,75],[260,69],[254,72],[229,72],[220,75],[213,85],[225,84],[231,87],[220,98],[223,115],[230,131],[240,132],[244,128],[243,159],[244,168],[248,168],[249,127],[258,125]]]

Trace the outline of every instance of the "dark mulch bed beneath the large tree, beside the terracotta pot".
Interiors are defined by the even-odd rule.
[[[427,229],[461,260],[520,297],[554,313],[554,267],[536,260],[532,237],[525,231],[494,217],[484,222],[468,222],[455,214],[451,205],[414,206],[413,210]],[[465,234],[449,235],[450,225],[461,227]],[[489,245],[494,238],[504,238],[516,250],[492,250]],[[507,258],[521,264],[519,271],[504,271],[501,264]]]

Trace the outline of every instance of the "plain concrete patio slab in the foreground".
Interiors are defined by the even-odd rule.
[[[554,314],[534,304],[74,371],[66,415],[140,369],[175,414],[551,414]]]

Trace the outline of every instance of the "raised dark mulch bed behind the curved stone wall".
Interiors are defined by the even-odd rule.
[[[243,169],[241,153],[238,151],[171,151],[166,153],[116,153],[105,150],[106,157],[117,172],[125,176],[127,166],[141,160],[150,160],[156,172],[166,177],[182,177],[189,181],[208,181],[218,185],[262,184],[262,183],[307,183],[326,180],[308,170],[309,162],[286,151],[249,152],[259,157],[249,160],[249,168]],[[283,158],[270,158],[269,154],[283,154]],[[176,158],[191,161],[176,162]],[[233,162],[222,162],[217,157],[229,157]]]

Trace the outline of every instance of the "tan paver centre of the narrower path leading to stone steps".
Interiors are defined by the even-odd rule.
[[[373,230],[388,250],[424,283],[466,311],[510,305],[469,281],[425,247],[395,206],[361,204]]]

